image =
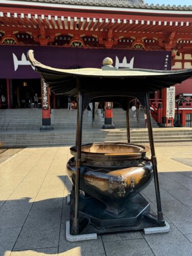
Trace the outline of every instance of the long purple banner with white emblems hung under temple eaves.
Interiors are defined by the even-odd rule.
[[[105,57],[111,57],[116,68],[170,70],[172,63],[170,51],[0,46],[0,78],[40,77],[27,60],[30,49],[41,63],[61,69],[101,68]]]

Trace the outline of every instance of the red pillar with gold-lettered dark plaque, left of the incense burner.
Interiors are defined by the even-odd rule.
[[[51,108],[50,108],[50,88],[44,79],[41,79],[41,98],[42,98],[42,126],[40,130],[53,130],[51,126]]]

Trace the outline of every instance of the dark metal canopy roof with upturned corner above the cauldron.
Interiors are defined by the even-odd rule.
[[[105,95],[114,97],[136,95],[174,86],[192,76],[192,69],[116,69],[110,65],[105,65],[102,69],[55,69],[38,62],[33,50],[28,52],[28,59],[56,94],[77,95],[78,91],[82,91],[95,95],[105,92]]]

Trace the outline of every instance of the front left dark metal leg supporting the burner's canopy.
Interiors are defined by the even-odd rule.
[[[82,113],[83,113],[82,93],[78,97],[78,114],[77,114],[77,159],[76,159],[76,180],[75,180],[75,197],[74,197],[74,215],[72,224],[72,234],[79,233],[79,184],[80,184],[80,167],[81,167],[81,144],[82,144]]]

